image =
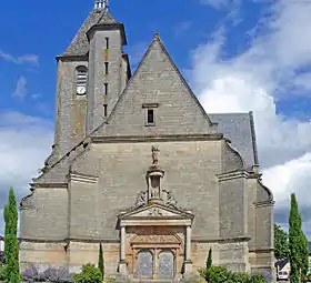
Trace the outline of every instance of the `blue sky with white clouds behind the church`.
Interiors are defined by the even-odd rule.
[[[92,0],[3,1],[0,17],[0,215],[51,151],[56,55]],[[288,228],[297,193],[311,240],[311,1],[110,0],[134,69],[156,32],[208,113],[253,111],[263,182]],[[0,234],[3,220],[0,218]]]

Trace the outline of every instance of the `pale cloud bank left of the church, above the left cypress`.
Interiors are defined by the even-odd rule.
[[[10,186],[18,201],[29,193],[28,183],[51,151],[52,123],[20,112],[0,112],[0,212]],[[0,214],[0,234],[2,215]]]

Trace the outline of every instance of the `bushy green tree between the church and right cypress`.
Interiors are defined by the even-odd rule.
[[[288,233],[277,224],[274,224],[274,256],[277,260],[284,260],[289,256]]]

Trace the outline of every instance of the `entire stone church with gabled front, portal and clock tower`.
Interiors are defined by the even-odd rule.
[[[131,73],[124,26],[96,1],[57,57],[56,137],[22,199],[20,262],[178,280],[213,264],[273,270],[273,196],[252,113],[209,114],[154,34]],[[230,91],[230,90],[229,90]]]

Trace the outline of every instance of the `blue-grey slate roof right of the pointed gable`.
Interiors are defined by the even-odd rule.
[[[219,123],[218,131],[231,141],[241,154],[248,170],[258,165],[257,142],[252,112],[209,114],[212,122]]]

